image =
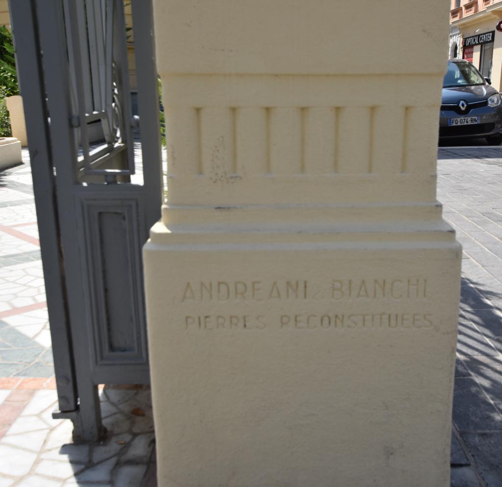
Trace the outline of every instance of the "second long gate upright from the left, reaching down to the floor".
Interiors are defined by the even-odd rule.
[[[17,2],[18,0],[16,0]],[[75,344],[75,373],[79,395],[78,424],[82,439],[95,441],[102,434],[101,411],[97,387],[91,379],[92,341],[89,337],[88,310],[85,307],[82,261],[77,228],[75,199],[76,151],[70,127],[71,103],[68,55],[62,0],[40,1],[38,9],[40,40],[45,73],[45,85],[50,114],[53,163],[56,169],[56,190],[61,226],[61,242],[66,271],[68,309],[72,339]],[[50,54],[49,54],[50,53]]]

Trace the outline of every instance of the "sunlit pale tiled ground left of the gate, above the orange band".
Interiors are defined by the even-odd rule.
[[[0,377],[53,375],[37,216],[26,164],[0,173]]]

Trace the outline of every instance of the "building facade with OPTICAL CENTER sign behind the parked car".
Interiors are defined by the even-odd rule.
[[[450,27],[449,57],[471,62],[500,91],[502,0],[451,0]]]

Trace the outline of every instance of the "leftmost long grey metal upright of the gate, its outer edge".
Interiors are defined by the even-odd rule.
[[[36,13],[31,0],[15,0],[11,3],[10,10],[18,79],[23,102],[27,107],[26,130],[32,163],[33,192],[37,209],[59,408],[62,411],[72,411],[77,408],[75,365],[62,266],[49,117],[45,105],[44,73]],[[21,35],[16,36],[18,32]]]

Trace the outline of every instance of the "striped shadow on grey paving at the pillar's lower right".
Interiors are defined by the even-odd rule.
[[[502,485],[502,293],[462,279],[451,485]]]

